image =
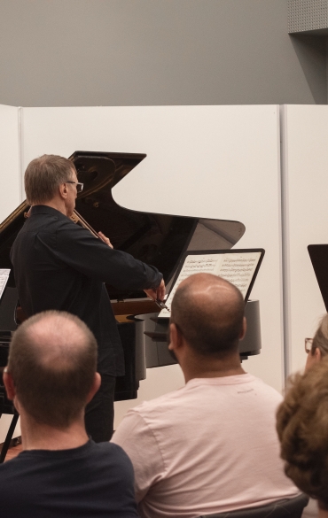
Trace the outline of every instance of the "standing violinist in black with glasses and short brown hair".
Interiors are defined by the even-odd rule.
[[[96,336],[102,383],[86,408],[85,423],[94,441],[108,441],[113,434],[115,378],[124,375],[124,357],[104,282],[163,300],[162,274],[113,250],[101,232],[74,224],[70,218],[82,183],[70,160],[56,155],[35,158],[27,166],[25,190],[32,209],[11,251],[20,305],[28,317],[51,309],[73,313]],[[66,344],[69,347],[69,336]]]

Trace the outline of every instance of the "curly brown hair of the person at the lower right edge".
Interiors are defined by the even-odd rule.
[[[328,510],[328,359],[290,378],[277,434],[285,474]]]

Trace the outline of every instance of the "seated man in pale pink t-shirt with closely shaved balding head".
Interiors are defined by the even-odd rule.
[[[130,410],[113,436],[132,460],[141,516],[195,518],[296,496],[279,458],[282,398],[240,365],[240,291],[195,274],[171,314],[169,349],[186,384]]]

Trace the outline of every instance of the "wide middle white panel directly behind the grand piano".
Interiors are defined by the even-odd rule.
[[[146,153],[113,189],[120,205],[246,225],[236,247],[262,247],[266,255],[252,293],[261,301],[263,348],[245,367],[281,390],[278,107],[24,108],[22,120],[23,170],[43,153]],[[116,405],[116,424],[127,407],[182,384],[177,366],[149,369],[138,400]]]

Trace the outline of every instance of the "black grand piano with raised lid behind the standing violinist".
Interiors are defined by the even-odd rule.
[[[230,249],[243,236],[245,227],[238,221],[140,213],[117,205],[112,196],[114,185],[145,157],[144,154],[75,151],[70,159],[79,182],[84,184],[76,199],[76,211],[92,228],[104,232],[114,248],[157,267],[169,289],[184,251]],[[0,268],[12,268],[9,253],[27,210],[23,202],[0,224]],[[144,291],[120,290],[108,284],[106,289],[118,321],[126,363],[126,375],[117,380],[115,400],[137,398],[139,381],[145,378],[146,367],[175,363],[168,353],[168,320],[157,320],[159,308],[146,298]],[[1,366],[6,362],[11,332],[23,318],[11,271],[0,300]],[[246,318],[247,333],[239,349],[242,359],[261,350],[258,301],[246,303]],[[4,394],[2,403],[10,405]]]

